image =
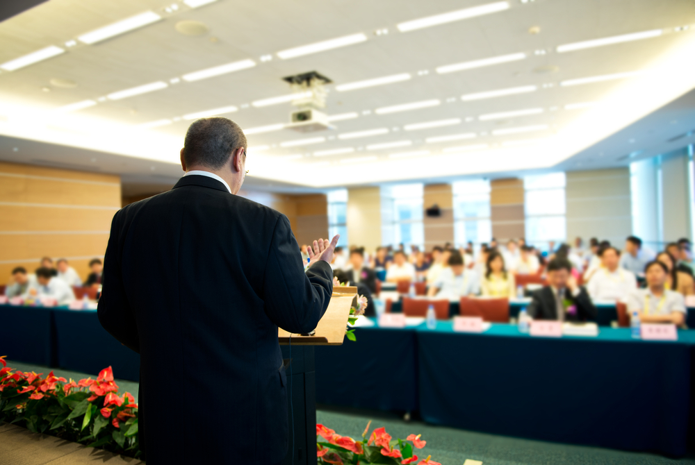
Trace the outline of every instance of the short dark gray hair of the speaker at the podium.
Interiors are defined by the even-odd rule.
[[[220,169],[236,149],[246,149],[246,136],[238,124],[222,117],[193,121],[183,142],[183,161],[193,167]]]

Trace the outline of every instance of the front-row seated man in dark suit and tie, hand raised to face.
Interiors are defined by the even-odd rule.
[[[549,286],[533,293],[528,314],[536,320],[585,321],[596,318],[596,307],[572,276],[572,264],[555,258],[548,264]]]

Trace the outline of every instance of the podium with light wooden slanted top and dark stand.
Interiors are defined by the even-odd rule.
[[[357,287],[334,287],[328,308],[312,335],[291,335],[281,328],[277,331],[287,374],[289,444],[284,465],[316,464],[313,346],[343,344],[347,317],[356,297]]]

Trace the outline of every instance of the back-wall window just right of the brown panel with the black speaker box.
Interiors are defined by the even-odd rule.
[[[454,242],[457,247],[471,241],[476,246],[492,239],[489,180],[452,183],[454,194]]]

